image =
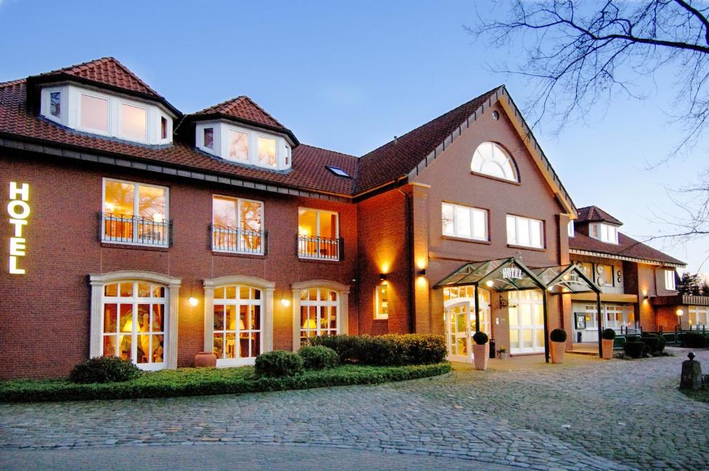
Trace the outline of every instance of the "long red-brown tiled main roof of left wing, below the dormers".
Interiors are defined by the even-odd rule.
[[[257,182],[272,182],[284,187],[308,189],[349,196],[352,179],[335,177],[325,165],[341,167],[354,174],[357,157],[342,153],[298,145],[293,150],[292,168],[286,172],[262,170],[257,167],[235,165],[201,153],[192,145],[176,141],[169,146],[149,146],[128,143],[113,138],[101,138],[63,126],[58,126],[28,109],[26,80],[0,84],[0,135],[25,138],[48,145],[60,145],[75,150],[89,150],[97,154],[133,157],[144,162],[157,162],[183,169],[238,177]]]

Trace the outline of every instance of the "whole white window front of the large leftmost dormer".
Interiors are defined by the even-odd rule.
[[[174,115],[159,104],[71,83],[40,94],[42,116],[67,128],[141,144],[172,142]]]

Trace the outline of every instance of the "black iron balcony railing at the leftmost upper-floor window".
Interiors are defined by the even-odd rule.
[[[171,221],[155,221],[127,214],[99,213],[101,242],[167,247]]]

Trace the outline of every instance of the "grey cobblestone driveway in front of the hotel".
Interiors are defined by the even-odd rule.
[[[513,371],[466,366],[448,377],[369,387],[2,404],[0,446],[284,443],[532,469],[709,469],[709,404],[676,391],[686,350],[673,351],[583,365],[509,360],[498,365],[517,365]],[[709,352],[697,359],[709,370]]]

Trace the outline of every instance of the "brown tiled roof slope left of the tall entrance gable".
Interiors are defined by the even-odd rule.
[[[481,94],[361,157],[354,192],[364,192],[408,174],[497,89]]]

